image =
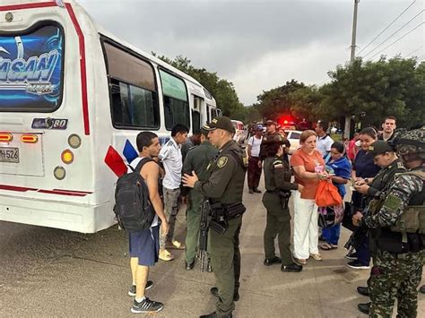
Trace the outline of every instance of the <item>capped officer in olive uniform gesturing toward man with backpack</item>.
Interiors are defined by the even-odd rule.
[[[200,191],[210,199],[212,204],[212,221],[221,224],[224,232],[210,228],[209,247],[218,292],[216,310],[201,317],[231,317],[235,309],[234,298],[239,297],[239,230],[242,224],[242,204],[247,158],[238,142],[232,140],[235,129],[226,116],[212,119],[204,126],[210,133],[208,138],[212,145],[219,148],[219,155],[208,168],[209,178],[202,182],[195,173],[185,175],[183,184]],[[219,213],[220,212],[220,213]]]

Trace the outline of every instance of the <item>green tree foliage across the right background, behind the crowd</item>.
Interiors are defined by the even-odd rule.
[[[307,120],[338,120],[352,116],[363,125],[380,125],[385,116],[398,126],[425,123],[425,63],[413,58],[381,57],[377,62],[338,65],[328,73],[331,82],[320,88],[292,80],[257,97],[265,117],[291,111]]]

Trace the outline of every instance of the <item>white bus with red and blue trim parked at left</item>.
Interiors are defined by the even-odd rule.
[[[199,82],[73,0],[0,4],[0,220],[108,228],[137,133],[165,142],[173,125],[193,133],[219,114]]]

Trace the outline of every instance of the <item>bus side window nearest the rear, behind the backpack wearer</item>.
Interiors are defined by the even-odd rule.
[[[160,109],[152,65],[108,42],[103,45],[108,58],[114,126],[159,128]]]

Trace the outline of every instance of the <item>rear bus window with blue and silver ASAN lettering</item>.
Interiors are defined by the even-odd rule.
[[[62,102],[64,32],[39,24],[0,33],[0,111],[51,112]]]

